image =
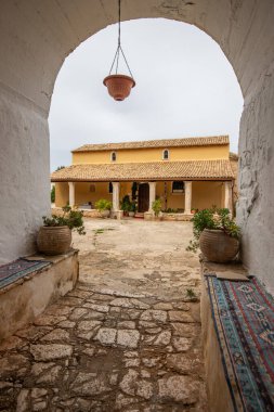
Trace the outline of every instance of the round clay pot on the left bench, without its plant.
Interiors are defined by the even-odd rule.
[[[67,226],[41,227],[37,236],[38,250],[44,255],[61,255],[69,250],[71,230]]]

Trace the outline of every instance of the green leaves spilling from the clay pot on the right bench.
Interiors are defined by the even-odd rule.
[[[236,239],[239,239],[240,235],[239,227],[232,219],[230,210],[226,208],[213,206],[211,209],[203,209],[197,211],[191,221],[193,222],[194,240],[190,242],[186,250],[197,252],[199,236],[204,229],[219,229],[229,236]]]

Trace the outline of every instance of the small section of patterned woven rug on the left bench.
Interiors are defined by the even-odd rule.
[[[0,266],[0,289],[37,270],[52,265],[44,260],[28,260],[19,258],[10,263]]]

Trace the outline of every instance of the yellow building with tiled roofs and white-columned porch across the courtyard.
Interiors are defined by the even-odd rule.
[[[86,144],[71,153],[73,165],[51,175],[56,207],[92,209],[105,198],[117,215],[123,196],[133,194],[139,213],[151,213],[155,198],[164,210],[185,215],[233,208],[237,156],[227,136]]]

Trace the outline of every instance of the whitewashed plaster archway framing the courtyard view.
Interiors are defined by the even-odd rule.
[[[0,262],[30,252],[50,209],[48,114],[56,75],[80,42],[115,23],[116,1],[3,0],[0,15]],[[243,256],[274,289],[274,4],[272,0],[125,0],[123,20],[194,24],[231,62],[245,99],[240,123]],[[259,236],[260,234],[260,236]]]

